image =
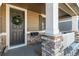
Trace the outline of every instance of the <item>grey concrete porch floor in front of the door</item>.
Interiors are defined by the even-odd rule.
[[[39,50],[41,52],[41,44],[37,43],[9,50],[3,56],[40,56]]]

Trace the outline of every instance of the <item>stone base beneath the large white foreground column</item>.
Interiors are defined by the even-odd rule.
[[[42,55],[43,56],[63,56],[62,36],[42,35]]]

